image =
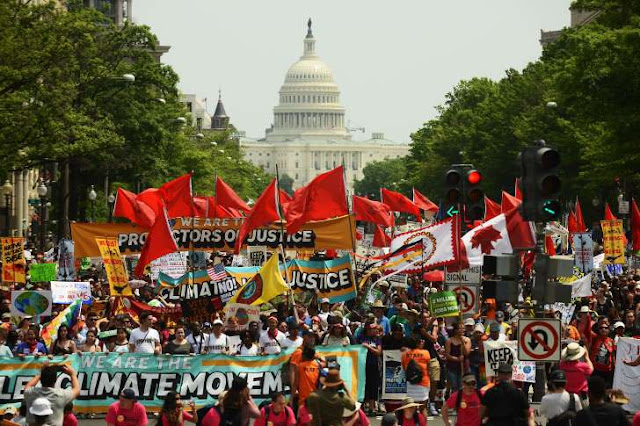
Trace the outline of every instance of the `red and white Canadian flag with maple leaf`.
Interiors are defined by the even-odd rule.
[[[461,267],[482,265],[483,255],[513,253],[514,249],[535,247],[531,222],[526,222],[514,208],[473,228],[461,238]]]

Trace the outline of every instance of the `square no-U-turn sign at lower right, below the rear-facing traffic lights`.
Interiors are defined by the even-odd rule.
[[[518,321],[520,361],[560,361],[562,327],[559,319],[523,318]]]

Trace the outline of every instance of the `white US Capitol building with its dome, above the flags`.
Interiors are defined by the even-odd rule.
[[[354,141],[345,127],[345,108],[331,69],[316,55],[316,39],[308,23],[304,53],[294,63],[280,88],[280,102],[273,109],[273,124],[262,139],[238,135],[245,159],[267,173],[293,178],[293,187],[306,185],[320,173],[344,164],[351,191],[362,179],[364,166],[385,158],[404,157],[409,144],[373,133],[371,139]]]

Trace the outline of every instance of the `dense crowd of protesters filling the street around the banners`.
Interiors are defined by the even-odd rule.
[[[376,286],[379,297],[372,302],[366,300],[367,286],[360,289],[356,299],[346,303],[332,304],[329,299],[315,295],[308,302],[290,305],[290,299],[283,298],[281,303],[263,306],[259,321],[252,321],[245,330],[237,330],[225,327],[228,323],[222,312],[191,322],[149,311],[137,316],[114,312],[108,283],[99,271],[94,267],[85,274],[82,279],[92,283],[94,299],[104,303],[84,307],[80,321],[71,328],[61,326],[50,347],[41,338],[42,327],[50,318],[38,321],[28,316],[13,317],[10,300],[2,300],[0,356],[24,358],[74,353],[91,356],[100,352],[260,356],[292,348],[295,351],[290,360],[290,394],[273,395],[269,405],[258,407],[248,393],[246,381],[238,378],[226,395],[219,398],[218,406],[200,413],[200,423],[244,426],[250,419],[256,419],[259,425],[272,422],[366,426],[367,416],[384,415],[390,410],[396,411],[395,419],[387,416],[383,423],[395,421],[417,426],[426,424],[430,417],[442,416],[449,425],[452,415],[457,415],[458,425],[477,425],[482,417],[490,419],[493,422],[490,424],[511,424],[500,423],[499,419],[504,418],[533,421],[530,384],[514,386],[510,366],[501,366],[496,378],[487,380],[483,347],[486,341],[517,339],[518,319],[531,317],[534,311],[526,290],[517,304],[486,299],[476,315],[462,321],[444,319],[432,316],[427,303],[431,292],[442,290],[442,283],[424,281],[416,275],[410,276],[407,284],[380,281]],[[573,315],[563,321],[562,361],[547,368],[548,393],[539,411],[547,419],[553,419],[571,408],[584,422],[578,424],[601,425],[605,424],[602,419],[608,419],[607,424],[613,426],[616,423],[612,419],[618,417],[621,419],[618,424],[626,424],[622,420],[624,413],[611,401],[624,403],[627,398],[611,391],[611,387],[618,340],[640,338],[640,276],[626,273],[594,276],[598,278],[592,284],[593,295],[574,300]],[[376,278],[372,276],[371,280]],[[46,284],[34,283],[29,287],[46,289]],[[167,306],[150,283],[136,288],[134,297],[151,307]],[[98,310],[96,306],[103,308]],[[51,318],[63,308],[54,306]],[[544,314],[561,317],[561,312],[550,309]],[[315,350],[318,346],[346,345],[362,345],[367,354],[365,395],[363,404],[357,407],[342,386],[337,366],[329,365],[330,361]],[[402,351],[408,399],[399,408],[397,404],[381,401],[385,350]],[[625,362],[637,365],[640,359]],[[23,404],[26,416],[21,420],[19,413],[8,410],[7,419],[13,415],[12,421],[17,424],[45,424],[37,423],[44,416],[49,422],[46,424],[73,424],[70,404],[77,396],[75,372],[64,371],[72,377],[71,389],[65,391],[55,389],[52,384],[59,372],[43,368],[42,374],[27,385]],[[38,381],[41,386],[34,387]],[[144,407],[136,398],[131,390],[123,390],[118,402],[109,409],[107,424],[146,424]],[[504,404],[506,400],[512,403]],[[329,412],[326,410],[329,406],[343,407],[344,413],[342,408],[337,414]],[[584,407],[589,407],[588,411]],[[51,414],[42,414],[49,411]],[[127,423],[121,419],[137,420]],[[179,393],[172,392],[165,398],[158,421],[162,425],[196,422],[198,412],[183,403]],[[634,426],[640,423],[640,415],[636,415],[634,422]],[[549,424],[561,423],[550,420]]]

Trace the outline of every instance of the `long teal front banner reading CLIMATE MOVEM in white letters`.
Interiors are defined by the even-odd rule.
[[[340,364],[341,378],[349,393],[359,400],[364,397],[366,349],[360,345],[318,347],[324,357],[335,357]],[[183,400],[192,399],[204,407],[216,401],[221,392],[231,387],[233,377],[247,379],[256,403],[269,398],[275,391],[287,391],[280,379],[283,364],[292,350],[279,355],[238,357],[227,355],[154,356],[150,354],[85,353],[68,358],[54,357],[52,364],[70,362],[78,371],[80,396],[74,401],[77,413],[106,413],[125,388],[139,395],[138,401],[147,411],[159,411],[163,397],[177,390]],[[24,385],[39,373],[42,360],[26,357],[0,357],[0,407],[18,407],[23,399]],[[69,387],[69,378],[58,378],[59,386]]]

